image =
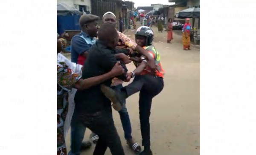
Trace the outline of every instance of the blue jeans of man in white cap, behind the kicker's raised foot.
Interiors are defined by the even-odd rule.
[[[115,90],[120,90],[122,87],[123,87],[122,85],[117,85],[117,86],[113,86],[112,88]],[[122,127],[125,132],[125,139],[130,140],[132,138],[131,137],[131,121],[130,121],[130,117],[129,117],[127,108],[125,106],[125,102],[123,103],[122,110],[120,110],[118,113],[120,115]]]

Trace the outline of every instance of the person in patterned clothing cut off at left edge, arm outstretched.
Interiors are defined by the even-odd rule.
[[[65,144],[65,133],[69,128],[73,113],[70,113],[69,93],[72,88],[78,90],[87,89],[93,85],[104,82],[107,79],[124,73],[124,69],[117,62],[112,70],[101,76],[95,76],[88,79],[81,79],[82,65],[72,63],[61,52],[61,40],[57,39],[57,155],[67,155],[67,147]],[[72,101],[72,100],[71,100]],[[71,104],[71,103],[70,103]]]

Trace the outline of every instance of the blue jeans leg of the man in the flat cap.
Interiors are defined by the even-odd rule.
[[[70,137],[70,152],[68,152],[68,155],[80,155],[80,148],[82,141],[84,139],[84,133],[86,130],[86,127],[84,127],[83,124],[78,119],[77,113],[74,111],[74,114],[72,116],[71,120],[71,137]]]

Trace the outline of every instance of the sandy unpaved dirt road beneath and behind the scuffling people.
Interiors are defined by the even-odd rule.
[[[181,36],[174,34],[172,44],[166,43],[167,33],[154,31],[154,46],[160,52],[166,71],[163,91],[153,99],[151,107],[151,149],[154,155],[199,155],[199,50],[183,51]],[[134,31],[126,35],[134,39]],[[127,65],[129,70],[135,67]],[[124,85],[127,85],[125,83]],[[132,136],[141,145],[138,93],[126,100],[131,119]],[[119,114],[113,110],[113,118],[122,141],[125,155],[134,155],[126,145]],[[91,131],[86,130],[84,140]],[[70,132],[67,138],[70,147]],[[95,145],[81,153],[92,155]],[[105,155],[111,155],[109,149]]]

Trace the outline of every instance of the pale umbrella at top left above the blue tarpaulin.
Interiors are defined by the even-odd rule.
[[[67,16],[69,14],[82,14],[77,8],[70,7],[65,3],[57,2],[57,15]]]

